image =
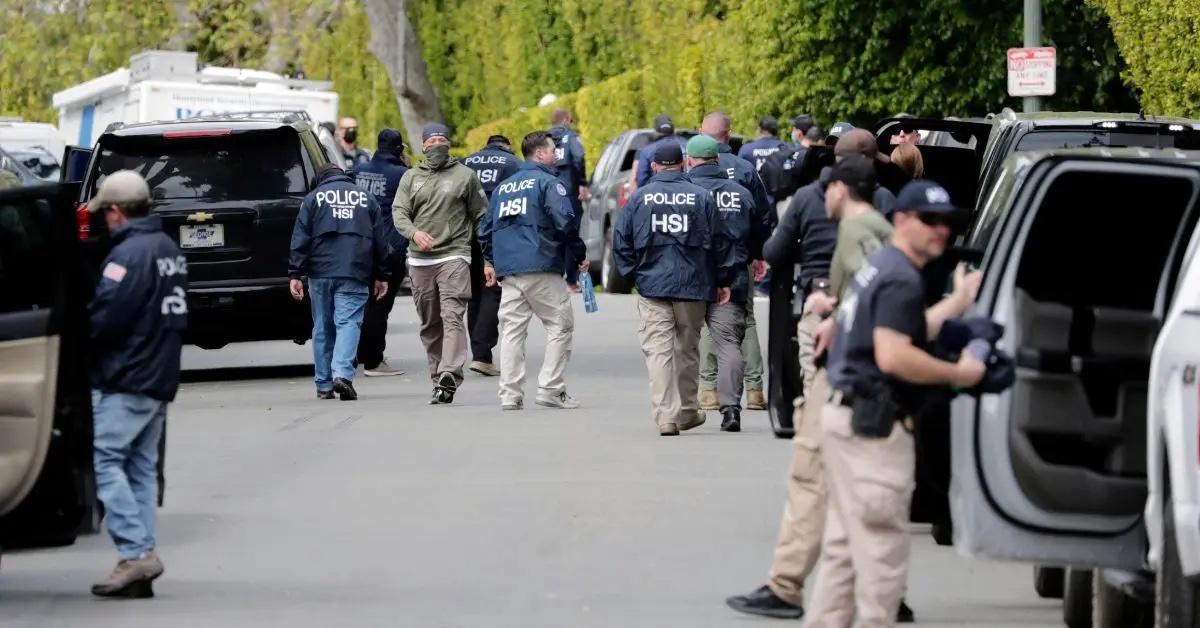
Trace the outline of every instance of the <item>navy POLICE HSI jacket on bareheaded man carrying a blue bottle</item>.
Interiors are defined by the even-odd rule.
[[[583,263],[587,249],[569,193],[554,171],[528,161],[496,186],[479,222],[479,246],[497,276],[562,273],[566,262]]]

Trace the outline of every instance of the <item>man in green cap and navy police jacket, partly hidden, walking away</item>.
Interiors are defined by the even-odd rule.
[[[716,140],[696,136],[688,140],[688,180],[708,190],[716,204],[713,250],[716,255],[719,285],[730,286],[730,301],[710,303],[706,322],[716,355],[716,391],[721,411],[721,430],[742,430],[742,384],[745,361],[742,343],[745,337],[745,303],[750,298],[750,259],[761,259],[767,239],[760,208],[749,190],[731,180],[718,165]],[[703,355],[703,352],[702,352]]]

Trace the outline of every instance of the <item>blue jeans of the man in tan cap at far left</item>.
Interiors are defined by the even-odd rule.
[[[96,494],[121,560],[155,548],[158,438],[167,402],[143,395],[91,391]]]

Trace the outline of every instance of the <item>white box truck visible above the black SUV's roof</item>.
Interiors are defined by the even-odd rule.
[[[316,124],[336,121],[337,94],[328,80],[284,78],[229,67],[198,68],[196,53],[146,50],[122,67],[59,91],[59,132],[91,146],[113,122],[182,120],[248,110],[304,110]]]

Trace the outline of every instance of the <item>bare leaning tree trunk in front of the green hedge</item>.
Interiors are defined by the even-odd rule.
[[[396,92],[406,136],[414,152],[420,149],[421,127],[442,122],[438,92],[430,83],[421,44],[408,22],[408,0],[364,0],[371,22],[368,49],[388,68],[391,89]]]

